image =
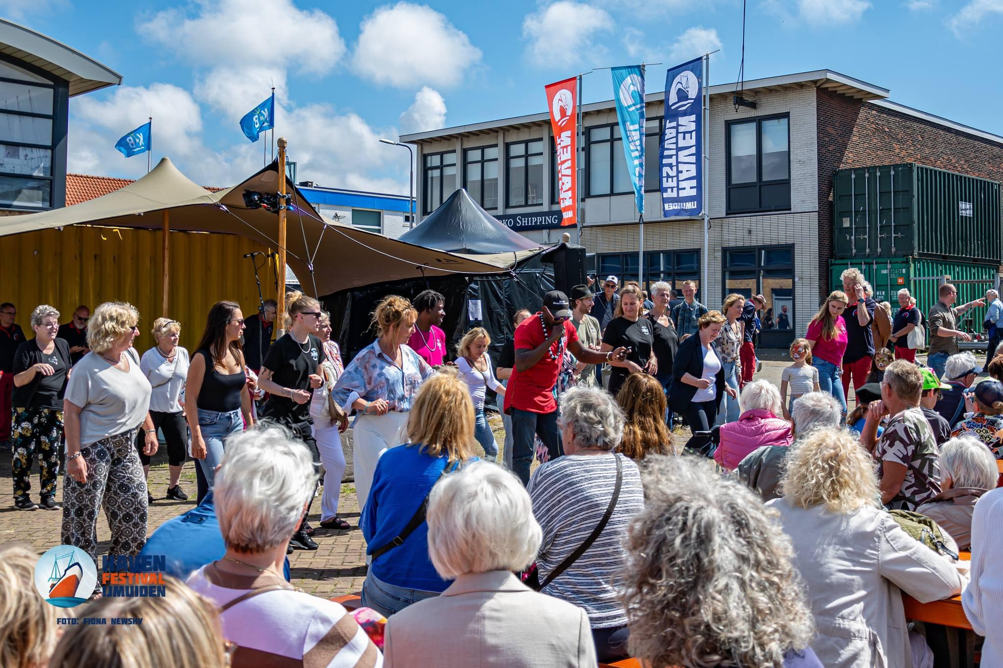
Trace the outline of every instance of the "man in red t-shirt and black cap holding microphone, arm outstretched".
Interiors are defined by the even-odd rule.
[[[543,310],[516,327],[516,367],[505,394],[505,412],[512,416],[514,432],[512,470],[523,485],[530,482],[534,435],[540,437],[552,460],[562,455],[554,389],[565,351],[590,365],[620,362],[627,354],[622,347],[609,353],[590,351],[579,340],[571,318],[567,295],[552,290],[544,295]]]

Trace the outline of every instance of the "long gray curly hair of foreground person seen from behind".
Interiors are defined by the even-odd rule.
[[[790,540],[750,490],[653,456],[625,545],[630,652],[651,666],[780,668],[814,635]]]

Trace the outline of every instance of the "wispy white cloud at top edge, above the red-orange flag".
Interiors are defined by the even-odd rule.
[[[530,42],[527,55],[538,67],[548,69],[594,62],[606,52],[596,43],[597,35],[613,25],[604,9],[558,0],[524,19],[523,37]]]

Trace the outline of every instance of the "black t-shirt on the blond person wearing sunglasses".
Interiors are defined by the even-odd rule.
[[[309,335],[307,343],[301,345],[286,332],[269,349],[262,368],[272,372],[272,382],[283,388],[313,392],[309,377],[317,373],[317,367],[324,360],[324,347],[320,339]],[[297,404],[288,397],[272,395],[262,407],[261,415],[263,418],[291,424],[311,422],[310,402]]]

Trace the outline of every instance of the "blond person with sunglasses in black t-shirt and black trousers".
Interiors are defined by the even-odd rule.
[[[286,294],[286,333],[268,350],[258,377],[258,387],[271,395],[259,415],[292,431],[310,451],[318,469],[320,453],[313,434],[310,399],[313,391],[324,385],[327,355],[320,339],[314,336],[322,314],[317,299],[299,291]],[[313,504],[313,497],[310,499]],[[304,518],[303,526],[293,534],[290,545],[301,550],[316,550],[317,544],[311,540],[311,534],[313,529]]]

